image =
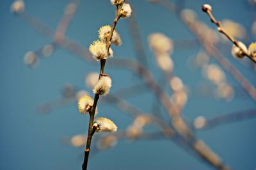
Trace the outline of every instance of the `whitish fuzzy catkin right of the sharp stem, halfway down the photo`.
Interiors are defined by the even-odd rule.
[[[106,96],[106,94],[108,94],[109,92],[110,87],[111,87],[111,78],[108,75],[104,74],[100,77],[100,80],[97,82],[97,84],[93,88],[93,93]]]

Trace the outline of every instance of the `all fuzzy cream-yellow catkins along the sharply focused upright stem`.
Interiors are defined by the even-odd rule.
[[[119,16],[122,18],[131,16],[131,6],[130,4],[124,3],[124,0],[111,0],[111,4],[120,7]],[[118,14],[117,14],[118,15]],[[120,46],[122,45],[122,40],[120,35],[110,25],[104,25],[99,29],[99,39],[93,41],[89,47],[90,53],[95,60],[107,60],[109,57],[113,57],[113,50],[110,45]],[[113,30],[114,29],[114,30]],[[110,45],[108,44],[110,43]],[[99,80],[93,86],[93,93],[97,96],[106,96],[109,93],[112,80],[108,74],[101,73]],[[89,113],[91,115],[93,108],[93,99],[90,96],[83,96],[78,101],[79,112]],[[97,113],[97,108],[95,108],[95,113]],[[108,118],[99,117],[93,122],[93,128],[95,132],[116,132],[116,125]]]

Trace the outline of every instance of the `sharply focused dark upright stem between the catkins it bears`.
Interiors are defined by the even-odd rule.
[[[117,21],[121,17],[120,12],[122,10],[122,5],[123,5],[123,3],[117,6],[115,20],[113,22],[113,25],[111,27],[111,31],[110,31],[110,33],[108,35],[108,38],[107,38],[107,41],[106,41],[106,49],[108,50],[108,52],[109,52],[109,48],[111,46],[111,39],[112,39],[112,36],[113,36],[113,32],[115,31]],[[105,64],[106,64],[106,59],[101,59],[100,60],[99,80],[100,80],[100,76],[102,74],[104,74]],[[92,106],[92,111],[90,111],[90,122],[89,122],[89,127],[88,127],[86,148],[84,150],[84,162],[83,162],[83,165],[82,165],[83,170],[86,170],[87,165],[88,165],[90,147],[91,147],[91,143],[92,143],[92,136],[95,132],[95,128],[93,128],[93,121],[94,121],[94,115],[95,115],[95,110],[96,110],[98,100],[99,100],[99,94],[95,94],[94,101],[93,101],[93,106]]]

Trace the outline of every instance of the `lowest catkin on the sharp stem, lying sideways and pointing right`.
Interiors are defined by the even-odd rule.
[[[117,127],[108,118],[99,117],[94,121],[93,127],[96,128],[96,132],[116,132]]]

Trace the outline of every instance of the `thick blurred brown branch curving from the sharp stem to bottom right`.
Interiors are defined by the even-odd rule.
[[[154,92],[157,99],[166,110],[166,113],[168,113],[168,115],[172,118],[175,129],[184,137],[184,139],[191,143],[191,148],[195,150],[195,152],[198,153],[202,159],[217,169],[229,169],[229,167],[222,163],[220,157],[218,157],[216,153],[212,152],[212,150],[208,148],[200,139],[195,138],[193,132],[187,127],[184,120],[180,116],[179,110],[173,107],[169,96],[163,91],[163,89],[161,89],[159,84],[154,81],[152,74],[150,74],[145,67],[141,66],[141,64],[138,62],[127,59],[111,60],[111,63],[109,64],[116,67],[126,67],[137,73],[143,79],[143,81],[147,82],[148,88]]]

